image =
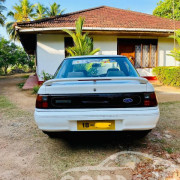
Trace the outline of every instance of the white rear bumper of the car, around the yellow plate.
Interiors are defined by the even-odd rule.
[[[115,120],[115,131],[149,130],[156,127],[159,108],[63,109],[34,113],[36,124],[44,131],[78,131],[77,121]]]

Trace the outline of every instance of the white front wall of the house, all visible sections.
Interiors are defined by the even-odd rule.
[[[42,79],[42,72],[54,74],[60,63],[65,57],[64,35],[60,34],[39,34],[37,36],[37,74],[39,80]],[[100,48],[98,54],[117,55],[118,36],[96,35],[92,36],[94,48]],[[128,38],[128,37],[124,37]],[[135,38],[135,37],[129,37]],[[148,37],[143,37],[148,38]],[[149,37],[152,38],[152,37]],[[154,37],[154,39],[157,37]],[[168,56],[174,47],[173,39],[158,38],[158,64],[159,66],[175,66],[178,62],[173,57]],[[151,76],[152,69],[137,69],[141,76]]]

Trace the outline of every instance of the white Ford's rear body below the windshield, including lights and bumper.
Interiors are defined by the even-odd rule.
[[[151,130],[159,119],[153,86],[140,77],[78,77],[45,82],[35,121],[46,132]]]

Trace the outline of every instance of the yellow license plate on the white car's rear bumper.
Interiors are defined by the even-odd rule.
[[[77,121],[78,130],[115,130],[115,121]]]

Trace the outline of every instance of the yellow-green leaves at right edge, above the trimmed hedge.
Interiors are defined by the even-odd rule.
[[[177,48],[174,48],[171,51],[170,56],[173,56],[175,58],[176,61],[180,61],[180,30],[175,32],[175,36],[170,36],[170,38],[175,38],[176,42],[178,43]]]

